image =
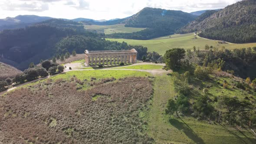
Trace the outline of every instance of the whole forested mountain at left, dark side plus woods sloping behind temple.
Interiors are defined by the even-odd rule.
[[[83,29],[80,23],[67,20],[47,20],[33,26],[9,29],[0,32],[0,62],[27,69],[30,62],[39,63],[56,54],[76,50],[145,49],[143,46],[128,46],[127,43],[111,42],[101,35]]]

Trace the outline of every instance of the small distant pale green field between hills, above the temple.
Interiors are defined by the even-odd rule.
[[[96,30],[98,33],[112,34],[112,33],[133,33],[141,31],[145,28],[125,27],[125,24],[116,24],[110,26],[98,25],[84,25],[85,29]]]

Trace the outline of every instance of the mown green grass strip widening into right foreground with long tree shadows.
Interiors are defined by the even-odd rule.
[[[209,84],[209,83],[208,83]],[[220,87],[213,86],[213,90]],[[210,92],[213,92],[210,90]],[[148,121],[148,134],[156,143],[174,144],[243,144],[253,143],[251,132],[236,131],[229,126],[209,124],[207,121],[197,121],[195,118],[168,118],[164,115],[164,108],[169,98],[174,97],[171,76],[156,77],[154,81],[154,97],[151,109],[143,116]],[[249,137],[249,138],[246,138]]]

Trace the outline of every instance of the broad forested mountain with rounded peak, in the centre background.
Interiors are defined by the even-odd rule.
[[[148,28],[135,33],[114,33],[108,37],[125,39],[152,39],[174,32],[194,20],[197,16],[180,10],[164,10],[146,7],[121,23],[126,27]]]

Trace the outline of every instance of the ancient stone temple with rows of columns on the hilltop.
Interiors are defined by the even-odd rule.
[[[137,53],[135,49],[105,51],[85,50],[85,66],[119,64],[121,62],[136,63]]]

